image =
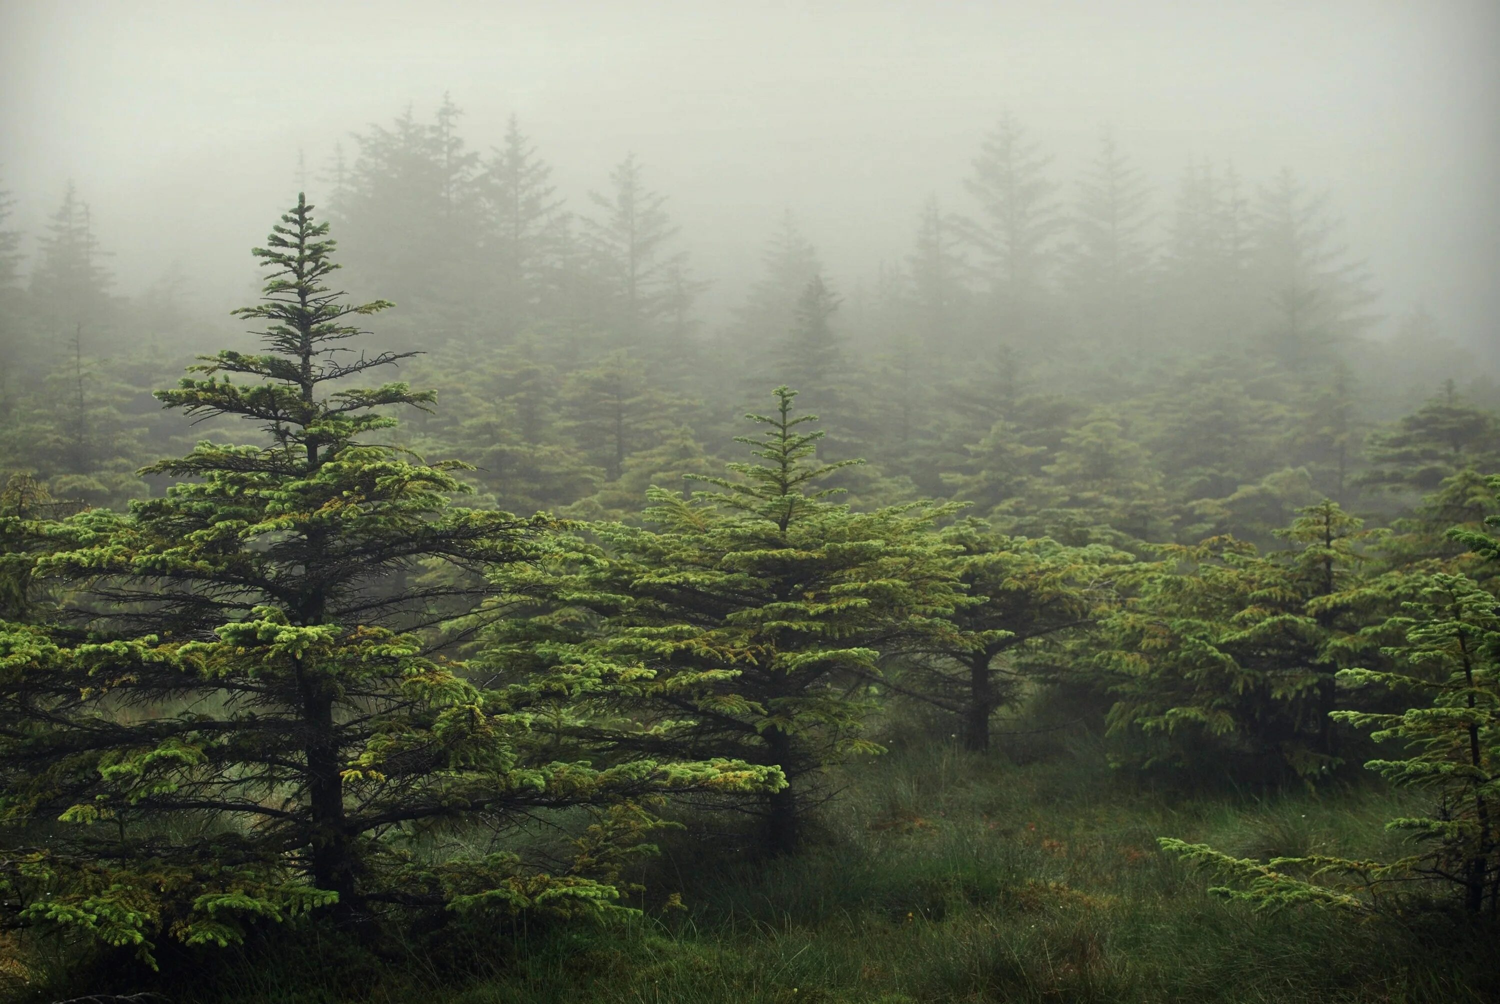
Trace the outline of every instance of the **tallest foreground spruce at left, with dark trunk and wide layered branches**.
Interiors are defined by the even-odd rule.
[[[9,924],[150,957],[164,935],[222,945],[308,911],[368,929],[392,905],[597,909],[652,825],[630,800],[754,774],[561,761],[513,695],[442,654],[442,626],[494,591],[484,572],[544,555],[554,524],[453,507],[460,465],[364,441],[394,423],[382,410],[434,396],[344,383],[411,353],[346,348],[390,303],[327,285],[327,231],[298,198],[255,251],[264,299],[237,314],[266,351],[220,351],[158,395],[268,443],[200,443],[150,468],[189,479],[164,498],[56,527],[36,572],[80,591],[72,620],[0,626]],[[554,875],[416,852],[434,828],[572,806],[615,809]]]

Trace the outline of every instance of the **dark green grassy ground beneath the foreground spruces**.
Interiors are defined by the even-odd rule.
[[[372,966],[302,944],[172,999],[332,1004],[915,1001],[1484,1001],[1494,932],[1256,914],[1204,891],[1156,836],[1245,855],[1390,852],[1378,791],[1180,798],[1088,743],[986,758],[909,738],[866,761],[807,854],[776,863],[669,845],[686,911],[498,938],[470,932]],[[507,947],[508,945],[508,947]]]

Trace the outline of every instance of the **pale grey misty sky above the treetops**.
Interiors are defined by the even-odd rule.
[[[574,209],[634,150],[714,315],[783,209],[846,294],[900,260],[1011,110],[1065,192],[1106,128],[1160,210],[1190,158],[1290,165],[1334,191],[1383,311],[1494,345],[1497,51],[1496,0],[0,0],[0,185],[34,234],[72,177],[123,291],[177,263],[232,306],[298,149],[316,200],[338,140],[450,92],[482,149],[519,114]]]

